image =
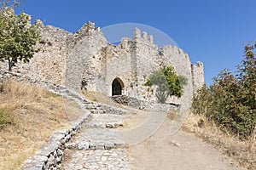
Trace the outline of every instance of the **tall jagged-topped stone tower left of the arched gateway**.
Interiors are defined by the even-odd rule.
[[[108,45],[99,27],[94,23],[86,23],[79,31],[69,37],[66,65],[65,85],[79,90],[86,80],[90,90],[96,91],[96,82],[100,72],[97,71],[100,60],[95,60],[96,54]]]

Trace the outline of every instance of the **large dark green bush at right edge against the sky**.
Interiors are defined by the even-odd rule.
[[[253,134],[256,125],[255,49],[256,42],[247,43],[236,75],[227,69],[221,71],[209,88],[201,88],[192,106],[196,114],[240,137]]]

